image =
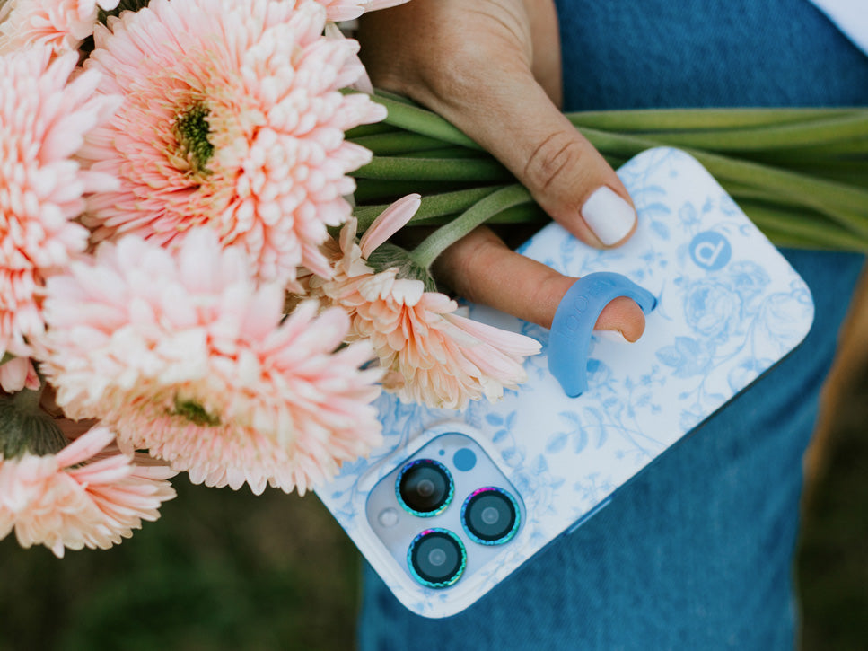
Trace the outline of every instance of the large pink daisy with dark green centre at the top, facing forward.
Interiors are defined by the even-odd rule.
[[[328,274],[319,244],[350,215],[346,173],[371,158],[344,131],[385,110],[339,92],[364,67],[324,24],[312,0],[153,0],[98,28],[85,66],[125,101],[83,151],[120,181],[89,204],[97,238],[166,244],[206,224],[261,279]]]

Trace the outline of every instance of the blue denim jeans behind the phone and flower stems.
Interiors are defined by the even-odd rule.
[[[558,9],[568,110],[868,104],[868,57],[804,0]],[[802,454],[864,258],[784,252],[817,308],[801,347],[467,611],[418,617],[366,567],[359,647],[792,649]]]

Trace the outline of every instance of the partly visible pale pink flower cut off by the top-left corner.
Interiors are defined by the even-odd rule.
[[[0,6],[0,52],[29,45],[55,52],[78,49],[93,33],[99,10],[119,0],[4,0]]]

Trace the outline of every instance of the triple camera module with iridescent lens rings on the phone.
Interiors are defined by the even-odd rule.
[[[381,479],[367,515],[417,583],[444,588],[513,540],[523,513],[516,495],[473,439],[449,433]]]

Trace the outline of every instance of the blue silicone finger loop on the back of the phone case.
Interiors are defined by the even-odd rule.
[[[548,370],[570,398],[588,388],[588,349],[603,308],[618,296],[636,301],[647,314],[657,299],[632,280],[610,271],[588,274],[575,281],[557,305],[548,337]]]

